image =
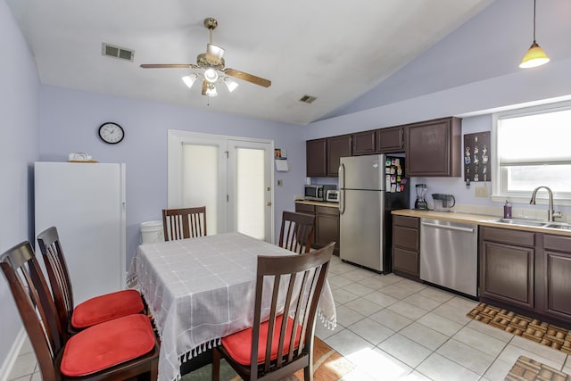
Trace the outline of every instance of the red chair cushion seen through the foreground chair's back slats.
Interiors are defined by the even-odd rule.
[[[277,344],[279,330],[281,328],[283,315],[276,318],[276,325],[274,326],[274,340],[271,343],[271,360],[277,359]],[[265,321],[261,323],[260,326],[260,339],[258,344],[258,364],[264,362],[266,357],[266,343],[268,340],[268,329],[269,322]],[[290,344],[290,337],[292,335],[292,327],[294,327],[294,319],[287,318],[287,327],[285,328],[285,340],[284,340],[284,351],[282,354],[287,352]],[[222,346],[228,352],[232,359],[236,360],[237,363],[242,365],[250,365],[250,359],[252,358],[252,328],[246,328],[236,334],[228,335],[222,337]],[[300,337],[302,336],[302,327],[297,328],[297,333],[295,335],[294,348],[297,348],[300,344]]]

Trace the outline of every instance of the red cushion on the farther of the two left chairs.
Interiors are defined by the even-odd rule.
[[[137,290],[104,294],[78,304],[71,314],[71,327],[83,329],[144,309],[143,299]]]

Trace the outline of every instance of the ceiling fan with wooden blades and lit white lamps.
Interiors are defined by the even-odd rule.
[[[271,81],[256,77],[244,71],[225,68],[224,49],[220,46],[212,44],[212,30],[216,29],[218,21],[211,17],[204,19],[204,27],[210,30],[210,44],[206,44],[206,53],[196,56],[196,64],[194,63],[144,63],[141,65],[144,69],[161,69],[161,68],[178,68],[178,69],[199,69],[203,72],[194,72],[191,75],[183,77],[187,87],[192,87],[194,81],[198,78],[203,79],[203,95],[216,96],[216,83],[222,82],[228,87],[228,91],[232,92],[238,86],[237,82],[231,79],[242,79],[261,87],[269,87]]]

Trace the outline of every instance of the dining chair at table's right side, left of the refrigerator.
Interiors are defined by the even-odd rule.
[[[284,211],[278,245],[294,253],[310,253],[314,229],[313,214]]]

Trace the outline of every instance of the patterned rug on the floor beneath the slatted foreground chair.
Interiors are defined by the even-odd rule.
[[[351,361],[346,360],[341,354],[332,349],[315,337],[313,343],[313,380],[314,381],[336,381],[355,369]],[[181,381],[209,380],[211,379],[211,364],[201,369],[194,370],[182,377]],[[225,381],[237,381],[241,378],[236,375],[228,362],[220,362],[220,379]],[[299,381],[303,379],[303,370],[299,370],[294,375],[286,377],[282,381]]]

